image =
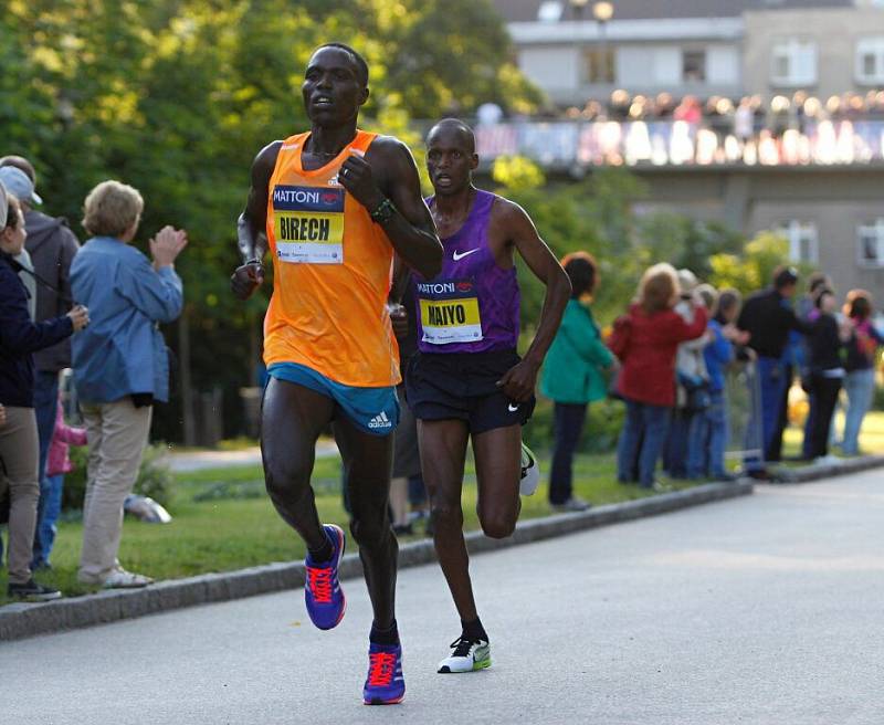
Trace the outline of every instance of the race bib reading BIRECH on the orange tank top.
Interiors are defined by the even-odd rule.
[[[281,262],[344,264],[344,195],[340,188],[273,188],[273,233]]]

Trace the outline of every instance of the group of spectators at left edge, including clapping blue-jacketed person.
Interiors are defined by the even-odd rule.
[[[173,263],[187,235],[165,227],[150,240],[148,260],[131,245],[141,196],[105,181],[84,202],[91,238],[81,248],[64,219],[35,209],[42,204],[35,183],[28,159],[0,159],[0,513],[8,511],[0,522],[9,533],[8,595],[60,596],[33,574],[51,568],[69,444],[88,445],[78,579],[143,587],[151,579],[117,559],[123,503],[138,474],[151,407],[168,397],[158,324],[181,312]],[[59,377],[65,368],[73,369],[85,429],[64,420]]]

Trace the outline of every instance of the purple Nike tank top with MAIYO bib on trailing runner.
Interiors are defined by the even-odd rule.
[[[497,266],[488,246],[496,197],[476,190],[463,227],[442,240],[442,272],[414,275],[418,346],[422,353],[485,353],[515,349],[519,290],[516,267]],[[427,200],[432,206],[433,198]]]

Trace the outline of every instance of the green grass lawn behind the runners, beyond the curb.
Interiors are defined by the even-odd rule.
[[[840,427],[838,430],[841,430]],[[787,453],[797,453],[801,433],[790,428]],[[861,444],[865,451],[884,452],[884,412],[866,418]],[[550,513],[546,501],[548,455],[540,455],[543,483],[536,495],[523,498],[523,518]],[[686,486],[688,484],[680,484]],[[318,459],[314,487],[324,522],[345,525],[347,515],[340,503],[340,462]],[[677,486],[676,486],[677,487]],[[575,464],[575,491],[593,504],[612,503],[648,495],[635,486],[615,482],[613,455],[579,455]],[[232,497],[234,496],[234,497]],[[467,461],[464,485],[466,528],[477,528],[475,514],[475,471]],[[143,524],[127,518],[119,558],[125,567],[156,579],[175,579],[210,571],[229,571],[271,561],[292,561],[304,557],[304,546],[278,517],[263,492],[259,466],[228,467],[180,474],[169,506],[173,516],[168,525]],[[54,569],[38,578],[59,587],[67,596],[92,589],[77,584],[76,564],[83,527],[63,522],[52,554]],[[351,547],[349,550],[354,550]],[[7,600],[7,574],[0,571],[0,603]]]

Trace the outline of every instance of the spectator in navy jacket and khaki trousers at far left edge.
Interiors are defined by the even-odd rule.
[[[3,195],[6,196],[6,195]],[[40,450],[34,413],[33,353],[70,337],[88,324],[85,307],[74,307],[61,317],[33,323],[28,293],[19,279],[14,258],[24,248],[24,214],[14,197],[7,199],[6,224],[0,229],[0,497],[9,490],[10,597],[29,600],[56,599],[59,591],[34,581],[31,554],[40,495]]]

